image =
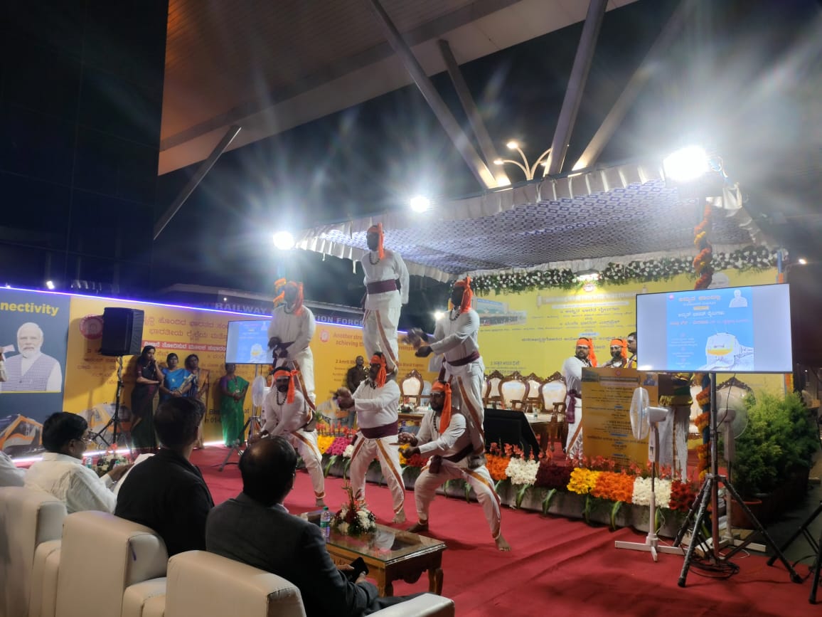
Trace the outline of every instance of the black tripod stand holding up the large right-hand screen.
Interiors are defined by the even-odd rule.
[[[700,489],[700,493],[697,494],[696,499],[694,499],[694,503],[691,504],[690,510],[688,511],[688,515],[686,516],[685,521],[682,523],[679,531],[677,532],[677,538],[674,540],[674,545],[681,545],[682,539],[685,537],[686,532],[688,531],[689,527],[691,529],[690,535],[690,542],[688,544],[688,550],[686,550],[685,554],[685,563],[682,564],[682,571],[679,575],[679,581],[677,584],[680,587],[685,587],[686,578],[688,576],[688,570],[690,569],[691,561],[694,557],[694,550],[696,549],[697,545],[701,547],[702,552],[704,553],[704,558],[708,560],[709,564],[716,569],[722,568],[726,566],[728,568],[736,568],[733,564],[730,564],[730,559],[733,555],[737,554],[741,550],[743,550],[750,542],[754,539],[755,534],[750,534],[745,540],[742,540],[739,544],[734,546],[731,550],[729,550],[725,554],[721,554],[721,542],[719,541],[711,541],[713,539],[719,538],[719,485],[720,483],[725,487],[725,490],[728,494],[731,495],[732,499],[737,502],[738,506],[742,508],[742,511],[746,513],[747,517],[750,519],[750,522],[756,531],[759,531],[762,537],[765,540],[765,545],[768,545],[774,551],[774,558],[778,558],[787,568],[788,573],[791,575],[792,582],[802,582],[801,577],[797,574],[796,570],[794,570],[790,563],[788,563],[787,559],[785,559],[785,555],[783,554],[782,550],[779,550],[779,547],[774,543],[774,540],[771,539],[769,536],[768,531],[765,531],[765,528],[762,527],[762,523],[760,523],[753,513],[750,512],[750,509],[746,506],[745,502],[742,501],[742,498],[737,493],[737,489],[733,488],[733,485],[727,480],[726,476],[719,475],[719,461],[718,461],[718,431],[717,431],[717,374],[716,373],[709,373],[711,379],[711,408],[709,411],[709,430],[711,436],[711,471],[708,474],[705,474],[705,481]],[[711,523],[711,531],[710,537],[704,533],[704,526],[707,522],[706,519],[709,516],[708,513],[708,502],[710,500],[711,503],[711,510],[710,510],[710,523]],[[773,561],[773,559],[772,559]]]

